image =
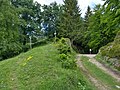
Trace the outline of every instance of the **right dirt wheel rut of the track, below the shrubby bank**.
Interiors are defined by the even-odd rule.
[[[112,69],[110,68],[107,68],[105,65],[101,64],[100,62],[98,62],[97,60],[94,59],[94,56],[95,55],[84,55],[84,56],[87,56],[89,57],[89,61],[93,64],[95,64],[98,68],[102,69],[103,71],[105,71],[105,73],[111,75],[113,78],[115,78],[118,82],[120,82],[120,74],[119,73],[116,73],[115,71],[113,71]]]

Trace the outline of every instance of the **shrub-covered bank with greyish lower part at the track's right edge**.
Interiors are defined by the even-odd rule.
[[[100,48],[98,55],[103,57],[102,62],[108,63],[110,66],[120,68],[120,31],[118,31],[113,42]]]

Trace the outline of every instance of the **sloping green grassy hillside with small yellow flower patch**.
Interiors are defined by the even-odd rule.
[[[1,61],[0,90],[90,90],[80,70],[64,69],[57,59],[49,44]]]

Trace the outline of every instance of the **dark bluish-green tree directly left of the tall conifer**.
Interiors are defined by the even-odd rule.
[[[49,38],[54,37],[54,33],[58,32],[58,23],[59,16],[61,13],[61,6],[57,5],[56,2],[51,3],[50,5],[43,6],[43,28],[45,31],[45,35]]]

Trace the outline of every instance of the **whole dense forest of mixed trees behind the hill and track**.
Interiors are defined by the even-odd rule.
[[[63,5],[0,0],[0,60],[27,51],[30,41],[34,45],[56,37],[69,38],[80,53],[97,53],[120,31],[120,1],[103,1],[93,9],[88,6],[83,18],[77,0],[64,0]]]

